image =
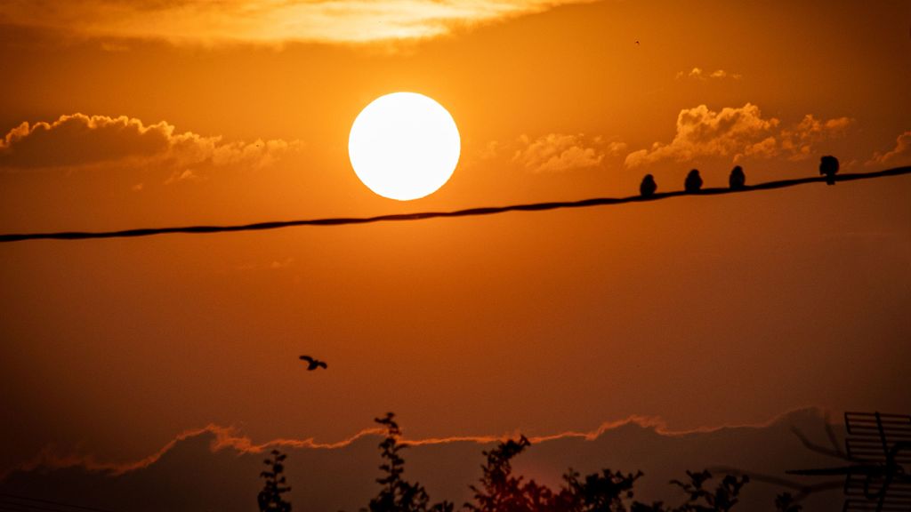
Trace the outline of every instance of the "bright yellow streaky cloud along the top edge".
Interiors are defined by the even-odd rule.
[[[545,11],[583,0],[13,0],[0,19],[85,36],[177,43],[364,43],[442,36],[455,26]]]

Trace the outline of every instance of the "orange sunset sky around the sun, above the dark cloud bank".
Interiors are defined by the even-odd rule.
[[[911,165],[911,4],[0,0],[0,233],[455,210]],[[452,179],[367,189],[374,98]],[[466,219],[0,244],[0,475],[181,433],[335,443],[911,412],[911,176]],[[328,362],[307,373],[298,355]],[[255,475],[252,476],[255,479]]]

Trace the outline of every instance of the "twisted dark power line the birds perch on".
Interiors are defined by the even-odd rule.
[[[911,174],[911,167],[898,167],[896,169],[886,169],[878,172],[842,174],[835,176],[835,181],[853,181],[855,179],[873,179],[885,178],[886,176],[899,176]],[[232,226],[182,226],[173,228],[144,228],[138,230],[118,230],[118,231],[60,231],[48,233],[10,233],[0,234],[0,242],[6,241],[26,241],[26,240],[87,240],[87,239],[107,239],[107,238],[132,238],[145,237],[151,235],[162,235],[169,233],[220,233],[232,231],[260,231],[260,230],[277,230],[280,228],[291,228],[294,226],[342,226],[347,224],[368,224],[373,222],[392,222],[402,220],[425,220],[447,217],[476,217],[480,215],[492,215],[495,213],[505,213],[507,211],[543,211],[558,210],[566,208],[588,208],[592,206],[605,206],[610,204],[624,204],[630,202],[646,202],[653,200],[666,200],[679,196],[715,196],[721,194],[736,194],[741,192],[752,192],[755,190],[783,189],[794,187],[807,183],[823,182],[827,178],[801,178],[801,179],[781,179],[778,181],[767,181],[756,185],[745,185],[742,189],[701,189],[698,193],[677,190],[673,192],[655,193],[649,197],[630,196],[626,198],[593,198],[588,200],[575,201],[553,201],[537,202],[527,204],[513,204],[508,206],[495,206],[486,208],[469,208],[466,210],[454,211],[423,211],[416,213],[397,213],[392,215],[377,215],[375,217],[334,217],[328,219],[308,219],[308,220],[280,220],[273,222],[257,222],[254,224],[238,224]]]

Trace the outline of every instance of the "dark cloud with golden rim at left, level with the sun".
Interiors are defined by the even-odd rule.
[[[146,125],[121,116],[61,116],[53,122],[22,123],[0,138],[0,169],[87,168],[156,165],[173,168],[169,183],[199,179],[189,166],[268,166],[300,142],[223,142],[192,132],[178,133],[161,121]]]

